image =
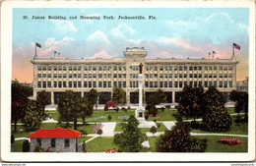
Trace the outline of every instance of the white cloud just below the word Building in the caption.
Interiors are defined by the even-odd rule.
[[[56,28],[62,31],[77,31],[77,28],[75,28],[73,22],[67,21],[67,20],[49,20],[54,24]]]

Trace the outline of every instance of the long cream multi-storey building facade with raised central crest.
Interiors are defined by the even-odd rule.
[[[236,64],[230,59],[146,59],[145,48],[126,48],[123,58],[112,59],[38,59],[33,64],[33,99],[45,90],[51,103],[57,104],[65,90],[73,90],[81,97],[95,88],[99,104],[111,99],[113,87],[122,87],[126,103],[138,103],[139,65],[143,64],[143,88],[146,98],[161,89],[167,103],[178,102],[186,85],[215,85],[225,94],[236,89]]]

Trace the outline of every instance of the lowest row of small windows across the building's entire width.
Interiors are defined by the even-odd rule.
[[[173,84],[174,83],[174,84]],[[191,86],[205,86],[208,87],[210,85],[218,86],[218,82],[145,82],[145,87],[184,87],[186,85],[191,85]],[[204,83],[204,84],[203,84]],[[219,82],[219,87],[232,87],[232,82]],[[112,84],[111,82],[53,82],[53,87],[111,87]],[[52,87],[51,82],[38,82],[37,87]],[[113,87],[126,87],[126,82],[113,82]],[[138,82],[130,82],[130,87],[138,87]]]

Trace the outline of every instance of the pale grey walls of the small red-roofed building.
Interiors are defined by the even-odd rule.
[[[41,138],[41,147],[46,150],[48,147],[52,149],[53,152],[76,152],[76,142],[78,143],[78,138],[69,138],[70,146],[65,147],[65,138],[55,138],[55,147],[51,147],[51,138]],[[31,138],[31,151],[33,152],[37,141],[36,138]],[[38,144],[38,143],[37,143]]]

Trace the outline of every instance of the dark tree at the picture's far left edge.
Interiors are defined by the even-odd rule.
[[[17,80],[12,83],[12,122],[17,131],[17,122],[25,117],[25,109],[29,103],[29,96],[32,95],[32,87],[21,85]]]

